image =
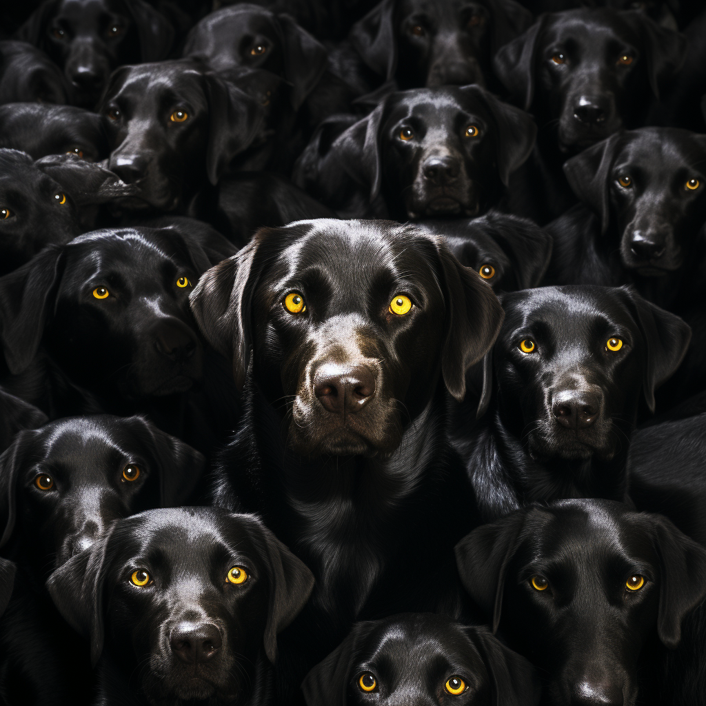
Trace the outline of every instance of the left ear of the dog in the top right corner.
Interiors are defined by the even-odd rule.
[[[513,103],[525,110],[532,107],[534,100],[534,64],[545,18],[546,15],[539,16],[534,25],[501,47],[493,58],[493,69]]]

